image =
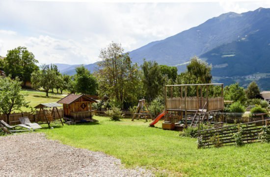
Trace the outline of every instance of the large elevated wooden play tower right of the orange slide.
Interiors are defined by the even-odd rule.
[[[214,86],[221,87],[220,93],[210,97],[209,87]],[[210,121],[209,113],[223,112],[223,84],[167,85],[164,87],[164,102],[163,129],[174,129],[180,126],[180,121],[184,122],[182,127],[195,127],[203,121]]]

